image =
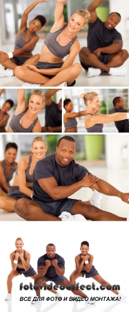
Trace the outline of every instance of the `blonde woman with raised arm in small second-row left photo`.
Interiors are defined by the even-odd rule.
[[[8,126],[8,132],[41,132],[41,124],[37,114],[45,104],[45,95],[34,90],[26,105],[25,89],[17,90],[17,109]]]

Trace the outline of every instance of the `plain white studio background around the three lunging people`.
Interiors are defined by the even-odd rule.
[[[69,279],[70,273],[75,270],[75,256],[79,254],[81,241],[88,241],[90,243],[90,253],[94,256],[93,265],[97,268],[99,274],[106,279],[110,284],[119,284],[121,287],[120,292],[128,296],[129,286],[129,270],[128,270],[128,258],[129,258],[129,246],[128,246],[128,223],[121,222],[94,222],[94,223],[43,223],[43,222],[1,222],[0,234],[2,236],[0,242],[1,250],[1,289],[0,293],[1,306],[4,312],[29,312],[35,311],[57,311],[66,309],[69,311],[86,309],[93,309],[94,311],[128,311],[129,300],[122,300],[121,302],[97,302],[95,305],[90,306],[84,302],[47,302],[46,300],[40,304],[32,305],[30,302],[20,302],[19,298],[34,297],[34,290],[19,291],[19,284],[23,282],[23,285],[30,284],[29,277],[15,277],[13,279],[12,287],[12,303],[5,302],[6,297],[6,279],[10,272],[10,252],[15,250],[14,241],[17,237],[21,237],[24,241],[24,249],[31,254],[31,265],[34,270],[37,270],[37,259],[41,255],[46,253],[46,245],[48,243],[54,243],[56,246],[57,254],[60,254],[66,261],[65,276]],[[95,287],[99,287],[99,284],[94,279],[79,278],[77,282],[79,285],[92,284],[95,282]],[[32,281],[33,284],[33,281]],[[50,284],[48,282],[48,284]],[[111,297],[114,296],[110,291],[83,291],[87,295],[96,297]],[[70,291],[59,291],[61,297],[74,296]],[[52,293],[49,291],[41,291],[41,296],[52,297]],[[40,310],[39,310],[40,309]]]

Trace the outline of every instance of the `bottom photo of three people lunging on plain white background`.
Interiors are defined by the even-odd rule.
[[[74,223],[68,223],[67,229],[64,223],[59,223],[58,227],[51,223],[48,227],[47,223],[43,225],[43,223],[31,222],[25,223],[23,227],[21,222],[9,222],[9,235],[4,223],[1,223],[0,231],[3,234],[0,247],[4,250],[4,257],[0,260],[1,307],[5,312],[15,312],[18,309],[41,312],[58,309],[128,311],[128,298],[122,300],[122,297],[128,296],[127,239],[129,233],[128,227],[123,223],[119,231],[118,222],[110,223],[110,227],[106,227],[106,223],[99,223],[99,227],[97,223],[87,223],[86,227],[82,227],[81,223],[76,223],[76,226]],[[19,259],[19,268],[12,270],[12,267],[17,266],[17,260],[14,260],[12,266],[11,260],[17,259],[21,251],[23,251],[23,259],[31,256],[30,272],[20,269],[22,257]],[[77,263],[80,263],[83,258],[90,259],[92,262],[90,272],[81,268],[75,270]],[[34,275],[43,268],[44,261],[48,265],[52,263],[53,270],[57,269],[55,262],[58,261],[59,270],[64,272],[65,268],[65,272],[63,276],[61,273],[60,276],[52,275],[53,270],[47,266],[45,277],[44,275],[40,277],[44,282],[40,289],[42,301],[35,304],[35,291],[39,295],[39,275],[36,277],[37,284],[33,284],[33,279]],[[88,266],[88,260],[85,261],[85,266]],[[65,289],[64,284],[67,285]],[[7,286],[12,288],[11,300],[5,300]],[[80,295],[83,296],[81,301]],[[95,300],[94,305],[88,304],[89,298]]]

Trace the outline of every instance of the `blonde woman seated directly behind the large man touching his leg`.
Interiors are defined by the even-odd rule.
[[[14,204],[19,198],[32,198],[32,182],[34,166],[46,155],[46,141],[43,137],[35,137],[32,141],[32,155],[23,157],[18,164],[12,187],[8,197],[0,197],[0,209],[13,212]]]

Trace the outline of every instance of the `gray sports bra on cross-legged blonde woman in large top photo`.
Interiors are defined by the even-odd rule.
[[[60,46],[57,42],[57,37],[59,33],[63,31],[68,25],[64,25],[63,28],[59,29],[59,31],[54,31],[54,33],[48,33],[46,40],[44,40],[44,43],[46,44],[48,50],[57,56],[57,58],[63,59],[66,55],[68,55],[70,52],[71,45],[75,42],[77,39],[77,36],[75,36],[67,46]]]

